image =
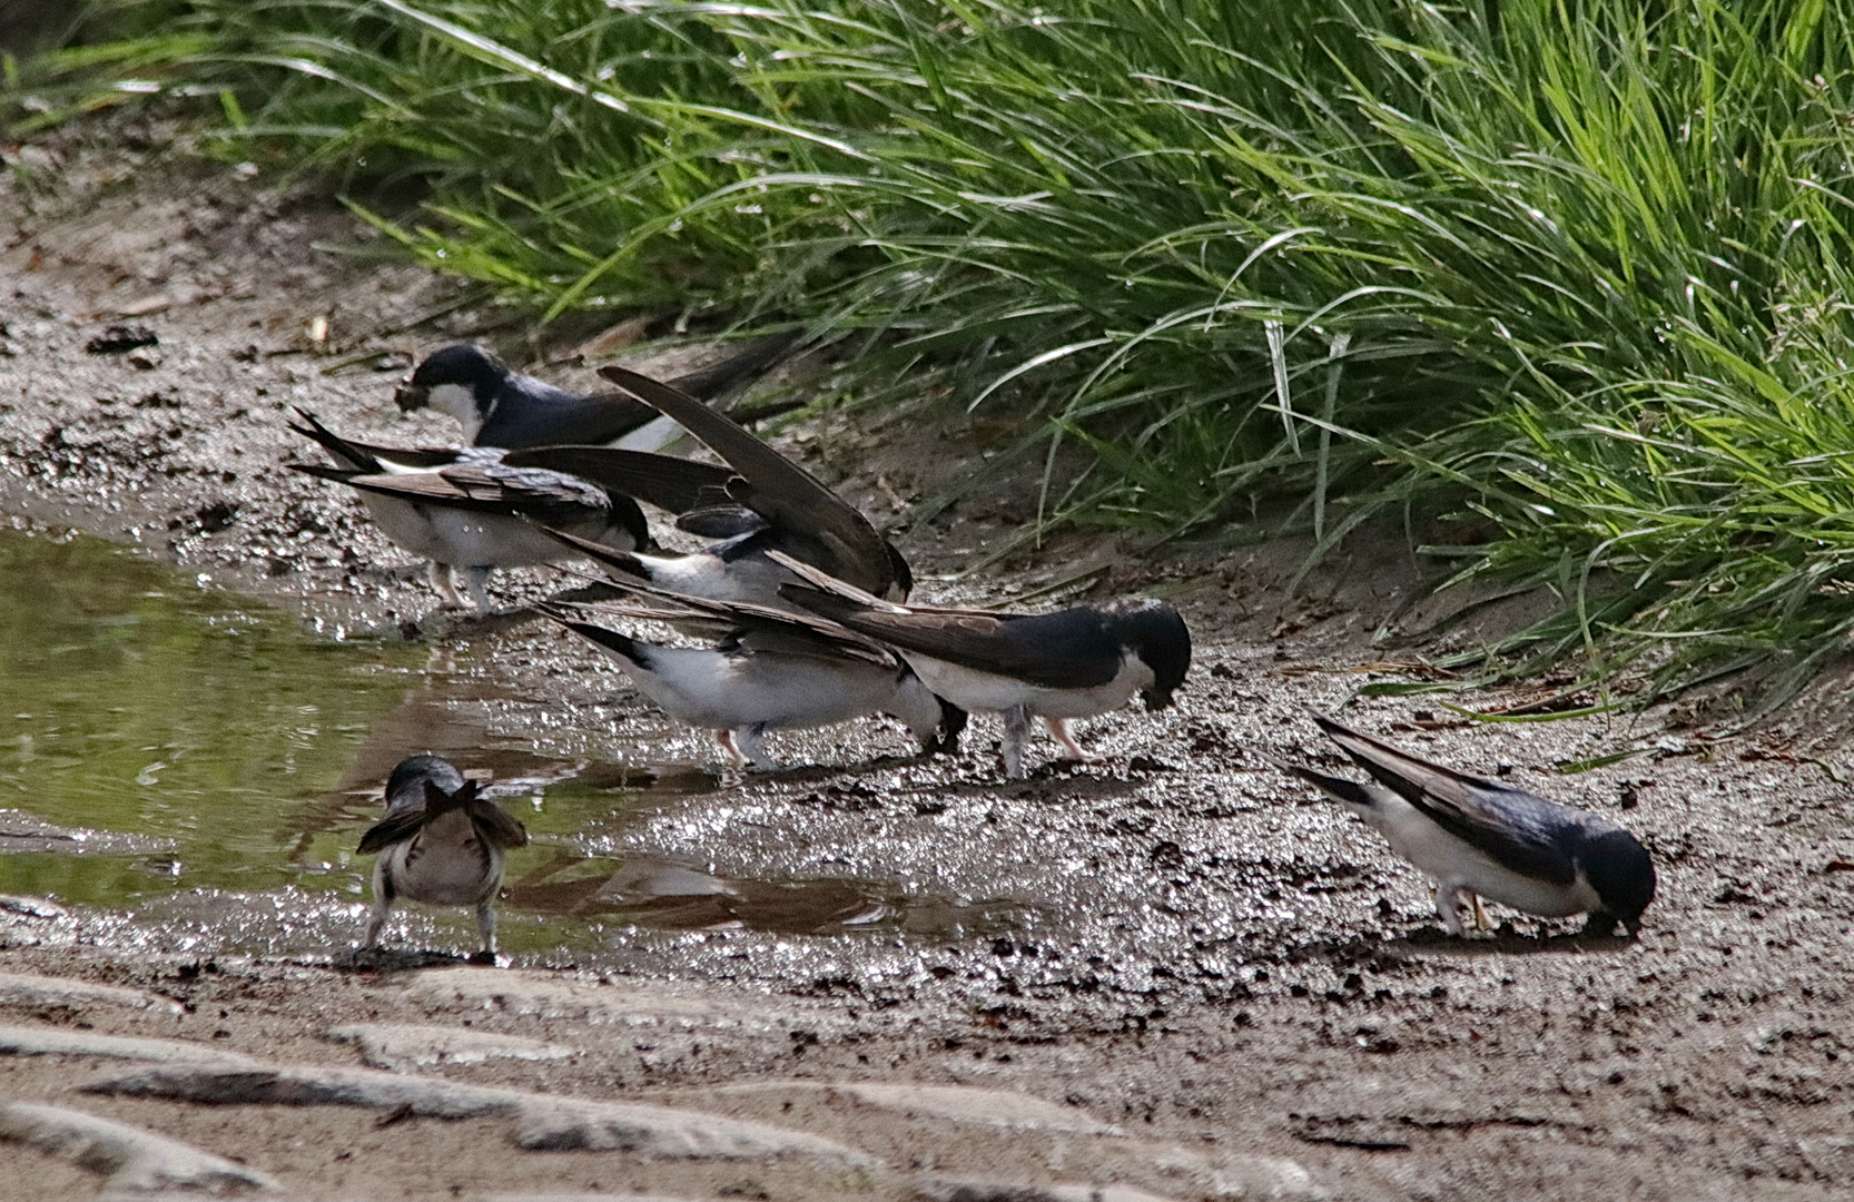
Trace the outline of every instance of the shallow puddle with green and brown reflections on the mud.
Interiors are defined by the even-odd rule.
[[[436,751],[493,777],[536,837],[510,855],[510,952],[595,952],[630,926],[842,935],[973,918],[870,881],[578,851],[588,829],[606,838],[716,779],[538,755],[491,733],[486,686],[447,659],[308,634],[111,543],[0,531],[0,892],[132,911],[158,944],[165,929],[198,950],[337,952],[360,931],[371,857],[352,850],[380,783]],[[464,950],[473,929],[415,907],[395,926]]]

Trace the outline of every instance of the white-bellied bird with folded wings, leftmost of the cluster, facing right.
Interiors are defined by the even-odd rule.
[[[308,410],[297,414],[308,425],[289,428],[321,443],[339,466],[291,467],[360,492],[380,532],[432,562],[432,586],[447,605],[458,605],[456,573],[471,603],[488,610],[486,586],[497,568],[578,556],[541,527],[571,531],[591,545],[619,551],[654,545],[643,510],[629,495],[562,471],[521,466],[519,453],[375,447],[334,434]]]

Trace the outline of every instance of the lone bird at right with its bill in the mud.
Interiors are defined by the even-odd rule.
[[[1485,926],[1479,898],[1528,914],[1589,914],[1585,935],[1630,935],[1654,902],[1648,850],[1617,824],[1498,781],[1416,759],[1331,718],[1313,720],[1368,783],[1281,764],[1363,818],[1390,850],[1435,877],[1435,913],[1463,935],[1461,902]]]

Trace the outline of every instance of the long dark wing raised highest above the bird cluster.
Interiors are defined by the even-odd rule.
[[[812,562],[819,568],[877,595],[899,584],[888,540],[808,471],[732,419],[667,384],[623,367],[601,367],[599,375],[651,403],[708,443],[708,449],[742,477],[729,488],[730,495],[781,532],[797,536],[806,543],[806,551],[808,543],[816,543]]]

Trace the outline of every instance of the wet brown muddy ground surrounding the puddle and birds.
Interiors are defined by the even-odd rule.
[[[521,326],[499,326],[508,315],[491,308],[452,308],[456,284],[319,250],[367,239],[313,189],[161,158],[146,148],[161,135],[111,128],[96,143],[67,134],[4,150],[24,171],[0,184],[0,510],[17,525],[141,543],[332,636],[454,649],[475,664],[464,688],[515,699],[480,720],[504,744],[532,738],[593,761],[638,748],[653,761],[701,755],[562,636],[434,620],[436,597],[397,569],[404,556],[360,506],[282,466],[304,454],[284,428],[289,404],[380,441],[454,438],[436,417],[402,419],[393,378],[436,345]],[[159,362],[85,354],[119,323],[154,328]],[[575,365],[554,375],[591,378]],[[831,417],[781,438],[892,521],[936,480],[981,464],[997,436],[984,421],[912,414]],[[881,1169],[515,1152],[489,1119],[78,1094],[87,1074],[128,1068],[70,1057],[0,1059],[0,1098],[76,1106],[235,1156],[304,1198],[907,1196],[923,1174],[1118,1182],[1172,1198],[1845,1196],[1854,798],[1839,694],[1737,736],[1672,709],[1487,725],[1433,697],[1352,705],[1352,722],[1424,755],[1609,812],[1656,855],[1661,892],[1635,942],[1498,913],[1496,933],[1448,940],[1413,870],[1266,761],[1305,753],[1305,707],[1403,679],[1385,660],[1413,651],[1372,646],[1385,620],[1420,629],[1459,605],[1403,612],[1420,568],[1402,534],[1355,540],[1298,595],[1283,588],[1303,553],[1292,543],[1138,556],[1131,542],[1064,536],[981,581],[931,579],[1007,536],[1025,503],[1007,484],[931,523],[908,543],[929,577],[923,595],[1001,597],[1094,568],[1101,592],[1159,588],[1198,640],[1175,710],[1103,718],[1085,735],[1101,764],[1044,766],[1010,785],[990,729],[966,755],[929,764],[903,759],[895,733],[875,727],[792,738],[779,744],[786,755],[823,766],[697,781],[612,848],[699,846],[714,872],[740,879],[834,874],[1009,902],[984,931],[640,929],[595,965],[527,957],[502,970],[519,983],[504,992],[445,992],[421,981],[451,968],[337,970],[328,948],[315,950],[326,914],[291,914],[287,900],[273,913],[293,935],[265,935],[256,950],[197,914],[0,909],[0,972],[182,1004],[50,1004],[0,989],[4,1022],[321,1065],[363,1063],[323,1039],[343,1024],[469,1024],[571,1055],[399,1068],[764,1119],[849,1143]],[[501,595],[558,584],[508,573]],[[1544,688],[1457,701],[1494,709]],[[595,705],[614,690],[621,736],[614,707]],[[1038,751],[1048,757],[1048,744]],[[1561,770],[1619,751],[1635,755]],[[386,762],[397,753],[380,749]],[[182,926],[185,952],[172,939]],[[352,937],[326,933],[330,946]],[[599,1002],[521,1000],[549,981]],[[920,1098],[877,1106],[844,1083],[1031,1094],[1079,1126],[973,1117],[970,1093],[951,1117]],[[30,1170],[0,1178],[0,1198],[100,1187],[65,1161],[26,1156]]]

